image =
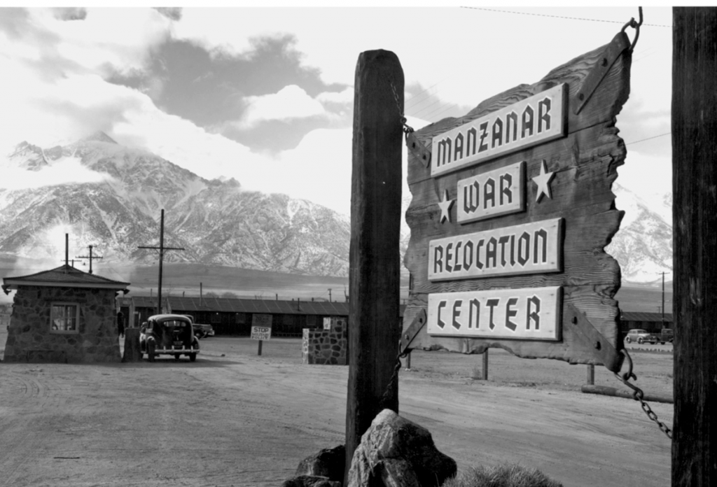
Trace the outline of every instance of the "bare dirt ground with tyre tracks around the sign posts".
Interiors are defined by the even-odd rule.
[[[3,330],[4,332],[4,330]],[[0,332],[0,353],[5,334]],[[0,485],[278,486],[344,440],[348,367],[301,364],[300,339],[201,340],[185,357],[113,365],[0,363]],[[635,345],[637,384],[670,395],[671,345]],[[669,486],[670,440],[634,400],[580,392],[584,365],[414,351],[400,412],[459,470],[537,467],[565,486]],[[596,383],[624,387],[596,367]],[[671,426],[673,405],[650,404]]]

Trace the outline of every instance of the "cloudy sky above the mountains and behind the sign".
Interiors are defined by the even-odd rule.
[[[617,122],[628,149],[617,182],[646,195],[671,184],[672,11],[643,11]],[[538,81],[637,15],[636,6],[3,8],[0,157],[23,140],[51,147],[103,130],[204,178],[348,214],[361,52],[397,54],[419,128]],[[24,183],[0,181],[12,184]]]

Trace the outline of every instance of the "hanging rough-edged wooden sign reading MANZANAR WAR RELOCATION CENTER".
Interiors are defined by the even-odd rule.
[[[612,193],[625,161],[615,116],[631,59],[620,32],[411,135],[430,158],[409,150],[407,347],[619,369],[620,270],[604,247],[624,214]]]

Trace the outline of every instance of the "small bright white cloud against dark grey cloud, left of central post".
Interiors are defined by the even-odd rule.
[[[320,102],[296,85],[283,87],[272,95],[245,97],[247,107],[235,122],[240,129],[255,127],[267,120],[292,120],[328,115]]]

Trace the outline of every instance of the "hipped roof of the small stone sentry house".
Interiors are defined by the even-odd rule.
[[[50,287],[87,287],[95,289],[126,289],[128,282],[113,281],[97,274],[75,269],[69,264],[63,264],[49,271],[37,272],[27,276],[6,277],[3,279],[2,289],[5,294],[18,286],[50,286]]]

